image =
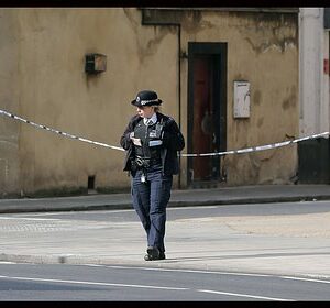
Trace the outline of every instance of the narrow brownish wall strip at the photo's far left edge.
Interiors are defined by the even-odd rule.
[[[19,50],[15,14],[0,10],[0,109],[19,111]],[[0,119],[0,197],[20,186],[20,125]]]

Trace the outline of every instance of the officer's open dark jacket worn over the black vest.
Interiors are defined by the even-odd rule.
[[[161,122],[163,120],[164,123],[164,136],[161,150],[163,173],[166,175],[178,174],[179,166],[177,151],[182,151],[185,147],[185,139],[173,118],[161,112],[157,112],[156,114],[157,121]],[[120,139],[121,146],[127,151],[123,169],[131,172],[132,174],[134,170],[132,169],[131,160],[134,160],[135,154],[133,142],[130,139],[130,133],[134,131],[135,125],[141,120],[142,118],[139,114],[134,116],[130,120],[123,135]]]

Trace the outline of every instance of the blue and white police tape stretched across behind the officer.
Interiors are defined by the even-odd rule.
[[[6,117],[9,117],[11,119],[24,122],[26,124],[31,124],[37,129],[42,129],[42,130],[46,130],[66,138],[70,138],[74,140],[79,140],[82,142],[87,142],[90,144],[96,144],[96,145],[100,145],[100,146],[105,146],[105,147],[110,147],[113,150],[119,150],[119,151],[124,151],[124,148],[120,147],[120,146],[114,146],[114,145],[110,145],[107,143],[102,143],[102,142],[98,142],[98,141],[92,141],[92,140],[88,140],[81,136],[77,136],[70,133],[66,133],[66,132],[62,132],[52,128],[48,128],[46,125],[43,124],[37,124],[34,123],[30,120],[23,119],[19,116],[15,116],[13,113],[10,113],[8,111],[1,110],[0,109],[0,114],[3,114]],[[258,152],[258,151],[265,151],[265,150],[273,150],[273,148],[277,148],[277,147],[282,147],[282,146],[286,146],[286,145],[290,145],[290,144],[295,144],[301,141],[306,141],[306,140],[312,140],[312,139],[317,139],[317,138],[327,138],[329,136],[329,132],[323,132],[323,133],[319,133],[319,134],[312,134],[309,136],[304,136],[304,138],[299,138],[299,139],[295,139],[295,140],[288,140],[288,141],[283,141],[283,142],[276,142],[276,143],[272,143],[272,144],[265,144],[265,145],[260,145],[260,146],[251,146],[251,147],[245,147],[245,148],[240,148],[240,150],[230,150],[230,151],[223,151],[223,152],[212,152],[212,153],[196,153],[196,154],[184,154],[182,153],[180,156],[184,157],[202,157],[202,156],[221,156],[221,155],[230,155],[230,154],[243,154],[243,153],[251,153],[251,152]]]

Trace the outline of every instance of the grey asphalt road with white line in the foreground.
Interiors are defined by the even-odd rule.
[[[117,265],[0,264],[0,299],[320,301],[330,280]]]

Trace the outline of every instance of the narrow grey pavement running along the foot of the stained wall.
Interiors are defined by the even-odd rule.
[[[330,185],[257,185],[173,190],[169,207],[330,200]],[[130,194],[0,199],[0,213],[131,209]]]

